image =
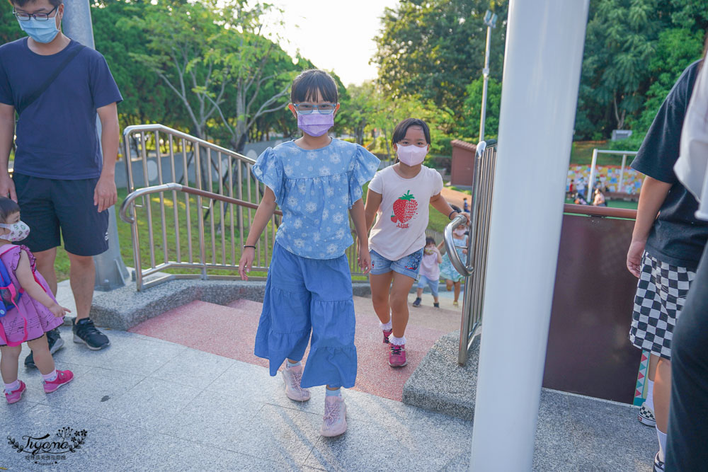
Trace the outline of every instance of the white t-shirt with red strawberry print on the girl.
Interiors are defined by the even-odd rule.
[[[369,183],[381,194],[369,249],[388,260],[399,260],[426,246],[430,197],[442,190],[442,177],[435,169],[421,166],[413,178],[403,178],[394,166],[378,171]]]

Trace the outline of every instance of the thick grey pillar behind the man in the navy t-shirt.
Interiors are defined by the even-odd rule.
[[[91,5],[89,0],[64,0],[64,19],[62,30],[74,41],[86,47],[96,49],[93,43],[93,25],[91,25]],[[101,122],[96,117],[98,136],[101,136]],[[99,143],[100,144],[100,143]],[[118,227],[115,221],[115,207],[108,209],[108,251],[93,257],[96,264],[96,290],[108,292],[125,285],[128,271],[120,257]]]

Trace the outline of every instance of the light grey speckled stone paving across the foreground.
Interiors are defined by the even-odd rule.
[[[445,316],[451,322],[456,313],[438,319],[411,311],[418,323],[447,323]],[[70,328],[61,331],[67,345],[55,355],[57,368],[72,369],[76,378],[46,395],[39,372],[21,367],[28,391],[13,405],[0,401],[1,432],[18,445],[45,434],[57,439],[65,427],[85,430],[86,439],[65,459],[33,457],[4,440],[0,468],[383,471],[392,459],[401,470],[469,468],[471,422],[348,390],[349,429],[327,439],[319,436],[323,388],[296,403],[285,397],[281,379],[258,365],[115,330],[106,331],[110,347],[89,351],[72,343]],[[21,359],[27,353],[25,346]],[[544,391],[533,469],[649,472],[655,443],[653,429],[636,421],[636,408]]]

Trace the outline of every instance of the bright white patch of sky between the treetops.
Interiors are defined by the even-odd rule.
[[[333,70],[345,86],[376,78],[369,60],[376,52],[379,17],[397,0],[271,1],[284,11],[280,46],[292,57],[299,50],[316,67]]]

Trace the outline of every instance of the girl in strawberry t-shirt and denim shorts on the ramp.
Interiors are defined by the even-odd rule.
[[[371,298],[384,343],[390,344],[389,365],[403,367],[408,294],[418,277],[426,246],[428,205],[450,219],[457,212],[440,195],[440,173],[423,166],[430,149],[426,122],[416,118],[403,120],[394,129],[392,143],[398,160],[371,180],[365,212],[367,228],[376,217],[369,237]]]

